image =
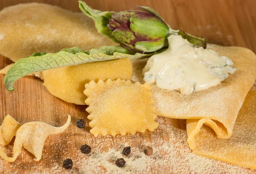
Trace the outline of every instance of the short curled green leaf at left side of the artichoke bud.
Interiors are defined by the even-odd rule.
[[[85,2],[79,0],[79,8],[88,17],[92,18],[95,27],[99,33],[111,38],[114,42],[119,43],[113,36],[111,36],[111,30],[108,28],[109,20],[114,12],[102,12],[100,10],[90,8]]]

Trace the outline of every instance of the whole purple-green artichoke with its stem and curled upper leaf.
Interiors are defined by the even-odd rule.
[[[160,51],[168,47],[169,35],[181,35],[194,46],[206,48],[205,39],[171,29],[160,14],[146,6],[137,6],[138,10],[102,12],[79,1],[79,8],[94,20],[99,33],[134,52]]]

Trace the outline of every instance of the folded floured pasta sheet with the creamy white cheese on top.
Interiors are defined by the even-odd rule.
[[[211,127],[218,138],[230,138],[238,112],[256,78],[256,55],[246,48],[227,47],[209,44],[208,49],[219,52],[232,59],[237,69],[221,85],[202,90],[191,95],[183,95],[173,90],[163,90],[155,84],[152,87],[152,99],[158,116],[176,119],[193,119],[191,135],[200,131],[203,124]],[[142,69],[147,60],[134,61],[132,81],[143,83]],[[197,119],[196,121],[194,119]],[[193,136],[190,136],[192,138]],[[189,139],[191,140],[191,139]],[[190,148],[194,148],[190,141]]]

